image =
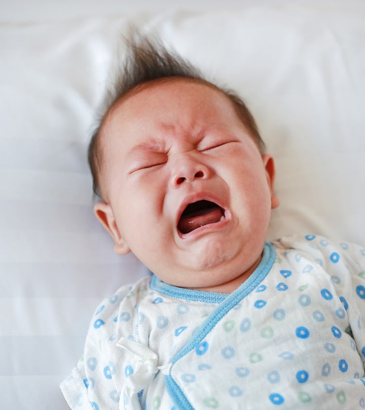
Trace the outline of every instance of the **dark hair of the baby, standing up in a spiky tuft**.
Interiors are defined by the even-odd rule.
[[[224,93],[231,100],[237,116],[250,132],[251,137],[258,145],[260,151],[264,153],[265,143],[259,134],[254,118],[243,100],[235,92],[218,87],[208,81],[198,68],[194,67],[189,61],[174,51],[167,50],[157,37],[148,38],[134,31],[133,34],[126,39],[126,44],[127,53],[125,62],[119,69],[113,87],[106,92],[102,104],[103,108],[99,114],[99,120],[89,144],[88,161],[93,178],[93,191],[95,195],[101,197],[99,176],[102,166],[102,149],[99,136],[106,115],[121,98],[128,96],[128,94],[131,94],[133,90],[138,89],[138,87],[158,79],[169,79],[172,77],[190,79]]]

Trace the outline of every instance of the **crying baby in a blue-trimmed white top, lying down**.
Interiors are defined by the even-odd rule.
[[[265,241],[274,160],[238,96],[131,42],[89,162],[116,253],[154,274],[98,307],[72,409],[365,408],[365,249]]]

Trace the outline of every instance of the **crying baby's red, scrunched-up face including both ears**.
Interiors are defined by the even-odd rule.
[[[100,137],[108,203],[95,211],[117,253],[186,288],[221,285],[260,259],[273,162],[223,93],[157,81],[118,102]]]

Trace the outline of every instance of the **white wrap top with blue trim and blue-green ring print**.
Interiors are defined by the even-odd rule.
[[[364,363],[365,248],[290,236],[230,295],[123,286],[61,389],[72,409],[347,410]]]

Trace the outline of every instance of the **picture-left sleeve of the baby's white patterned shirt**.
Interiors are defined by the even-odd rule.
[[[120,338],[118,332],[121,326],[118,324],[134,314],[133,303],[128,303],[132,299],[128,299],[131,293],[131,286],[123,286],[112,297],[104,300],[92,317],[84,355],[70,376],[60,384],[72,410],[120,408],[120,378],[116,367],[123,361],[123,352],[116,347],[116,343]],[[128,325],[132,322],[129,320],[123,323],[126,335],[133,332],[133,325]]]

